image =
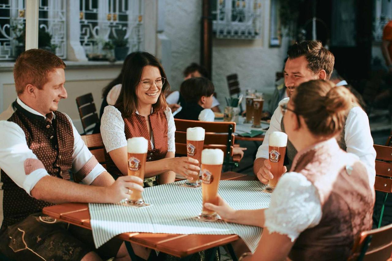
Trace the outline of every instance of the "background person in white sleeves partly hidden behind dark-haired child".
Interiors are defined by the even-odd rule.
[[[205,67],[203,66],[198,65],[197,63],[191,63],[191,65],[185,68],[183,74],[184,74],[184,80],[188,80],[189,78],[198,78],[198,77],[208,78],[207,69],[205,69]],[[179,91],[174,91],[171,94],[169,94],[169,96],[167,96],[166,98],[166,101],[169,104],[177,104],[180,106],[183,106],[184,102],[186,102],[181,96],[181,93]],[[213,112],[220,112],[219,105],[220,105],[219,101],[216,100],[214,96],[212,96],[211,110]],[[178,106],[178,108],[180,106]],[[172,110],[172,112],[174,111]]]

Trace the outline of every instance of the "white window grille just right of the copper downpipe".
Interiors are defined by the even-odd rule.
[[[261,0],[213,1],[212,30],[217,38],[260,38],[261,7]]]

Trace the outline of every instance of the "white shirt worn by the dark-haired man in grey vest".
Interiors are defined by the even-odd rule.
[[[283,116],[280,111],[280,105],[287,104],[289,100],[290,98],[285,98],[279,102],[278,108],[272,115],[270,127],[265,133],[264,141],[257,151],[256,159],[268,159],[269,135],[274,131],[282,131],[280,123]],[[376,150],[374,150],[373,147],[373,138],[370,134],[368,116],[361,107],[354,107],[348,112],[344,128],[344,139],[347,146],[346,151],[357,155],[362,163],[365,164],[369,174],[370,187],[373,187],[376,178]]]

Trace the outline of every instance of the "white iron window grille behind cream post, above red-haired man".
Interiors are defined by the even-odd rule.
[[[40,0],[39,3],[38,22],[43,36],[38,43],[44,37],[47,40],[51,37],[45,49],[66,58],[66,0]],[[0,60],[13,60],[25,49],[25,7],[26,0],[0,1]]]

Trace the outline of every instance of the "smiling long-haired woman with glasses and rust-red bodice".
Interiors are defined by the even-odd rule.
[[[150,141],[144,187],[173,182],[175,173],[198,174],[193,159],[174,158],[176,128],[165,100],[170,85],[158,59],[135,52],[123,68],[120,95],[114,106],[105,107],[101,120],[109,173],[115,179],[127,175],[127,139],[144,137]]]

